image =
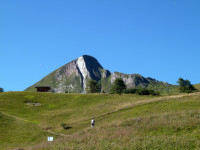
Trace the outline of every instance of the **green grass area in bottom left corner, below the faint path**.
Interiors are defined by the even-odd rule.
[[[1,148],[23,147],[46,141],[47,134],[37,124],[0,112]]]

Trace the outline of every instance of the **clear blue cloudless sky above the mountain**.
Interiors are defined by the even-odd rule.
[[[91,55],[111,72],[200,83],[200,0],[0,0],[0,87]]]

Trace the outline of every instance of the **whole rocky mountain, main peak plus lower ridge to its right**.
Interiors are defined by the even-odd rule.
[[[101,91],[108,92],[116,78],[122,78],[128,88],[144,88],[157,84],[168,85],[165,82],[145,78],[138,74],[111,73],[104,69],[94,57],[83,55],[53,71],[28,87],[26,91],[36,91],[36,86],[50,86],[56,93],[85,93],[87,82],[93,79],[101,84]]]

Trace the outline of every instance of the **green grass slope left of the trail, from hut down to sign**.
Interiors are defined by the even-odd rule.
[[[27,147],[56,133],[73,134],[90,126],[90,119],[151,96],[108,94],[0,93],[0,146]],[[60,124],[72,128],[64,130]],[[50,133],[51,132],[51,133]],[[3,134],[2,134],[3,133]],[[55,135],[55,134],[54,134]]]

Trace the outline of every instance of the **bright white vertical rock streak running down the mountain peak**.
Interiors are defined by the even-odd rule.
[[[79,68],[79,70],[80,70],[80,72],[83,76],[83,89],[85,91],[86,79],[91,78],[91,77],[90,77],[90,73],[88,72],[88,70],[86,68],[86,64],[85,64],[85,60],[84,60],[83,56],[78,58],[77,65],[78,65],[78,68]]]

